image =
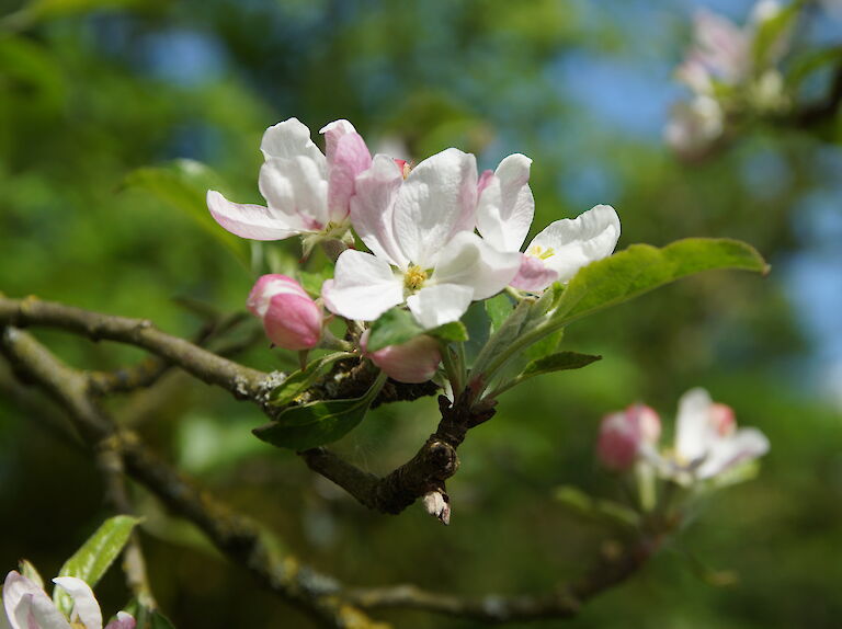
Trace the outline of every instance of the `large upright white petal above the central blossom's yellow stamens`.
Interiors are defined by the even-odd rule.
[[[395,236],[401,251],[423,268],[457,231],[473,231],[477,160],[458,149],[425,159],[409,173],[395,203]]]

